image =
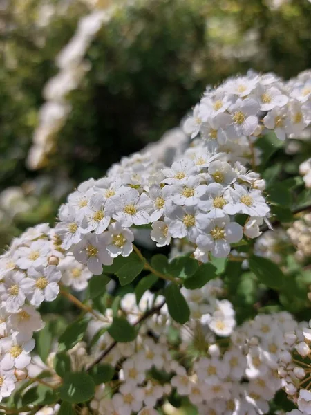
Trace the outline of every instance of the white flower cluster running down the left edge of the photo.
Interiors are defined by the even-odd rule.
[[[0,257],[0,400],[12,394],[17,380],[28,376],[33,333],[44,326],[36,308],[57,297],[61,279],[81,290],[91,277],[62,252],[53,230],[42,224],[13,239]]]

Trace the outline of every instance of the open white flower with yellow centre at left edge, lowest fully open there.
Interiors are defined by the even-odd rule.
[[[0,361],[0,367],[3,370],[24,369],[30,363],[30,351],[35,347],[35,340],[30,339],[26,342],[18,341],[14,338],[4,338],[1,342],[4,353]]]

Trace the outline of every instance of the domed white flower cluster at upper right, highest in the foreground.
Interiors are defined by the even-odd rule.
[[[268,131],[279,140],[295,138],[311,122],[310,86],[311,71],[289,82],[253,71],[229,78],[216,89],[207,89],[185,121],[185,132],[191,138],[200,135],[210,151],[229,150],[232,156],[237,149],[243,154],[243,148],[252,147]]]

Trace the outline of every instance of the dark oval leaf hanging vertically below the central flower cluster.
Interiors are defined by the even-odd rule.
[[[189,320],[190,310],[185,297],[176,284],[169,284],[164,290],[169,314],[176,322],[185,324]]]

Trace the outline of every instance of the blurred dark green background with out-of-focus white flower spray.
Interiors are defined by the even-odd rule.
[[[0,248],[208,84],[311,67],[308,0],[0,0]]]

